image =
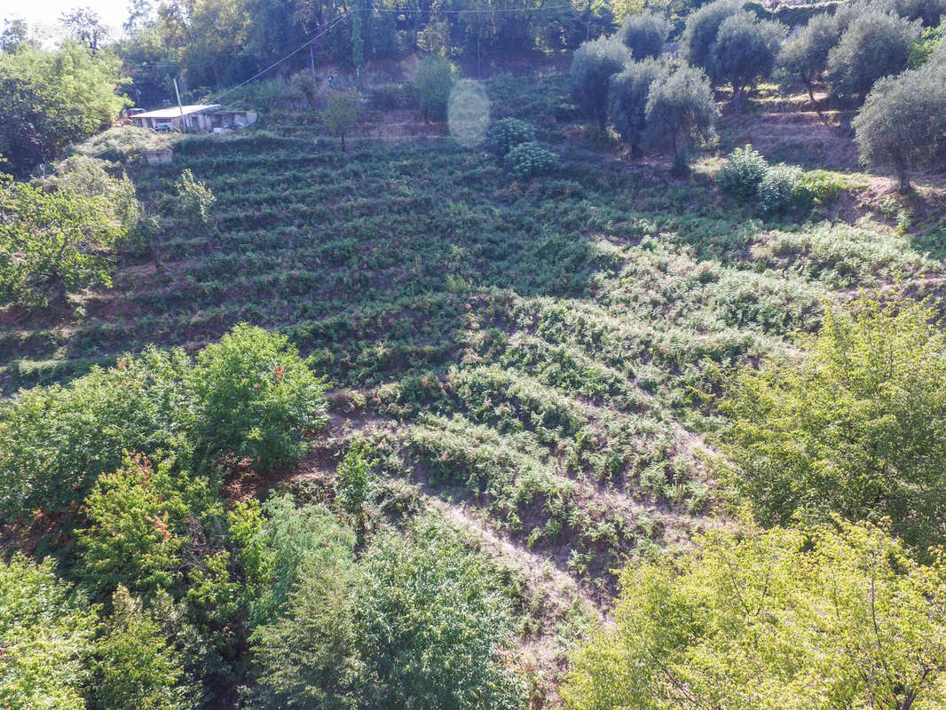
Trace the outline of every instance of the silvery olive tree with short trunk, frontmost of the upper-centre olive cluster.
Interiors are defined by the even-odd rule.
[[[674,151],[674,173],[685,175],[692,151],[714,135],[718,115],[706,75],[692,66],[668,65],[647,95],[644,141]]]

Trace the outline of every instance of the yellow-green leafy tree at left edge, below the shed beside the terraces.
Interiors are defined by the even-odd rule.
[[[0,299],[45,306],[111,286],[107,254],[125,233],[101,198],[49,193],[0,173]]]

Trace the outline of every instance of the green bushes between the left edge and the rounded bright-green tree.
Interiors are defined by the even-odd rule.
[[[192,405],[180,351],[156,350],[94,368],[65,386],[36,387],[0,404],[0,513],[7,521],[81,502],[125,451],[180,448]]]

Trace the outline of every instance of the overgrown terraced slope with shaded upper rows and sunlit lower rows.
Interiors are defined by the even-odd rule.
[[[561,151],[557,174],[515,183],[450,140],[342,155],[299,117],[185,140],[173,165],[135,169],[139,195],[166,213],[192,169],[219,234],[166,218],[157,268],[123,266],[79,318],[21,318],[0,365],[10,390],[239,321],[288,332],[336,388],[332,430],[289,485],[373,438],[378,504],[438,511],[515,569],[527,662],[549,672],[623,559],[715,524],[702,435],[721,368],[790,353],[825,303],[943,265],[836,210],[763,222],[705,172],[629,165],[569,123],[561,77],[490,92],[494,116],[534,120]]]

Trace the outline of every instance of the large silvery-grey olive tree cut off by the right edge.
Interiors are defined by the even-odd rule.
[[[853,127],[861,158],[896,170],[901,190],[908,190],[912,170],[946,160],[946,64],[878,80]]]

